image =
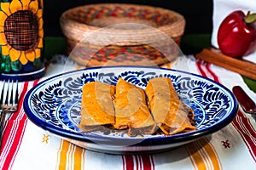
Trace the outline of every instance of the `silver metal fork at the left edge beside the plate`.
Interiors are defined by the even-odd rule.
[[[16,84],[16,85],[15,85]],[[0,148],[3,138],[3,127],[5,124],[5,117],[7,113],[14,113],[18,110],[19,96],[18,96],[18,81],[8,80],[3,81],[3,88],[0,96]]]

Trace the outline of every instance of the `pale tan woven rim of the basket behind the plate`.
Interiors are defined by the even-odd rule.
[[[92,31],[98,31],[102,28],[107,28],[107,27],[99,27],[99,26],[91,26],[88,25],[87,23],[82,23],[79,22],[78,20],[75,20],[71,14],[74,10],[81,10],[81,8],[90,8],[90,7],[100,7],[100,6],[125,6],[125,7],[135,7],[135,8],[146,8],[146,9],[152,9],[154,11],[161,11],[164,14],[172,14],[175,18],[176,21],[171,23],[171,24],[166,24],[164,26],[148,26],[148,28],[144,28],[143,30],[136,30],[136,34],[134,30],[123,30],[123,29],[118,29],[115,27],[110,26],[111,29],[107,29],[106,36],[103,35],[102,39],[109,39],[109,35],[113,35],[114,37],[137,37],[138,39],[146,39],[145,42],[152,42],[154,41],[155,32],[152,28],[157,29],[159,31],[162,31],[166,33],[167,36],[169,37],[181,37],[183,35],[184,31],[184,26],[185,26],[185,20],[182,14],[179,14],[175,11],[172,11],[170,9],[166,8],[160,8],[160,7],[153,7],[153,6],[148,6],[148,5],[143,5],[143,4],[132,4],[132,3],[92,3],[92,4],[86,4],[82,5],[79,7],[75,8],[69,8],[67,9],[63,14],[61,14],[61,28],[63,34],[69,38],[69,39],[74,39],[77,41],[82,41],[85,36],[90,35]],[[153,31],[152,31],[153,30]],[[106,31],[106,29],[105,29]],[[83,36],[81,36],[83,35]],[[148,40],[147,40],[148,39]],[[144,41],[143,41],[144,42]],[[116,42],[113,42],[116,43]],[[127,44],[132,44],[133,42],[125,42]]]

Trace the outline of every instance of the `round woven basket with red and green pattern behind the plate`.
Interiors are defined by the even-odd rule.
[[[61,14],[67,54],[89,67],[164,64],[179,53],[184,27],[181,14],[145,5],[98,3]]]

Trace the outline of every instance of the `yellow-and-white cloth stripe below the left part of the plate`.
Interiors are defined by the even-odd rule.
[[[80,170],[84,165],[84,150],[75,144],[61,139],[60,148],[58,151],[59,170]]]

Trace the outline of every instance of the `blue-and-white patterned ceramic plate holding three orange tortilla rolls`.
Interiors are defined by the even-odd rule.
[[[193,108],[197,129],[172,136],[129,137],[125,133],[84,133],[78,127],[82,86],[91,81],[115,84],[119,77],[145,88],[154,77],[169,77],[183,102]],[[28,118],[38,127],[89,150],[106,153],[169,150],[214,133],[236,116],[238,105],[229,89],[183,71],[153,67],[112,66],[71,71],[32,88],[24,101]]]

